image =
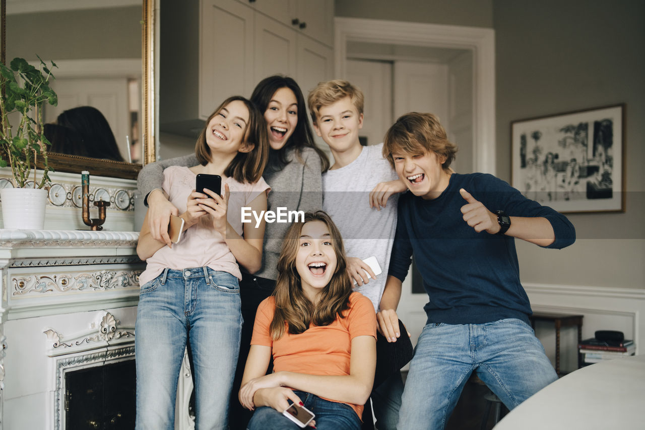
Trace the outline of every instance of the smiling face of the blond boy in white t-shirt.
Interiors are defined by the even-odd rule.
[[[361,147],[359,130],[362,128],[362,118],[352,99],[347,96],[321,107],[313,128],[337,158],[337,154]]]

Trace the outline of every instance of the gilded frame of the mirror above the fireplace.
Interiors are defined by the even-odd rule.
[[[141,116],[143,165],[156,159],[155,136],[155,0],[141,3]],[[0,61],[6,64],[6,0],[0,0]],[[48,152],[48,164],[56,172],[81,173],[88,170],[94,176],[137,179],[141,164],[123,163],[106,159],[86,158]],[[39,163],[39,167],[42,167]]]

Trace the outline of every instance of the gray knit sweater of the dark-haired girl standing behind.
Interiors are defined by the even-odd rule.
[[[321,161],[312,148],[304,148],[302,158],[304,164],[299,163],[293,150],[288,152],[287,158],[291,161],[282,170],[264,172],[264,180],[271,186],[268,196],[268,209],[286,207],[288,210],[319,210],[323,207],[323,185],[321,180]],[[163,170],[169,166],[192,167],[199,164],[194,154],[184,157],[165,159],[145,165],[137,186],[142,196],[148,196],[150,191],[161,189],[163,183]],[[264,231],[264,245],[262,253],[262,268],[255,273],[262,278],[276,280],[278,276],[277,263],[282,249],[283,238],[289,223],[266,223]]]

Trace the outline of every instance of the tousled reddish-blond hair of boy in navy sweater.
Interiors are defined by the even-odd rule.
[[[448,140],[439,118],[433,114],[410,112],[405,114],[388,128],[383,141],[383,158],[394,167],[393,152],[417,154],[423,150],[432,151],[444,158],[441,167],[450,169],[450,163],[457,154],[457,145]]]

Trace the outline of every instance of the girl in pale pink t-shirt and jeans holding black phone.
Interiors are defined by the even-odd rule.
[[[244,97],[229,97],[197,139],[194,167],[164,170],[163,191],[181,213],[184,232],[172,248],[139,234],[146,260],[135,327],[136,429],[174,429],[179,369],[190,333],[197,429],[227,427],[229,393],[239,351],[242,265],[261,267],[264,221],[241,222],[241,208],[266,210],[261,177],[268,154],[264,118]],[[197,174],[217,174],[223,195],[196,192]],[[147,218],[147,216],[146,216]]]

